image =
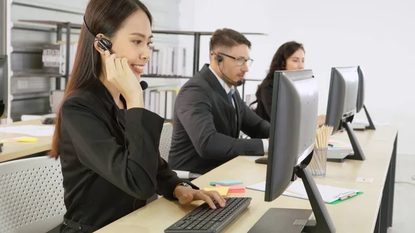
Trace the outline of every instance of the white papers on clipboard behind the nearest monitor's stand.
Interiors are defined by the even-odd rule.
[[[265,192],[265,181],[261,183],[257,183],[255,185],[250,185],[246,188]],[[320,191],[320,194],[322,195],[324,203],[329,203],[329,204],[340,203],[341,201],[352,198],[353,196],[358,196],[360,194],[363,194],[359,190],[344,189],[340,187],[333,187],[333,186],[327,186],[327,185],[317,184],[317,188]],[[302,183],[301,179],[297,179],[295,180],[295,182],[291,183],[291,185],[286,189],[286,191],[282,195],[308,200],[306,189],[304,188],[304,184]]]

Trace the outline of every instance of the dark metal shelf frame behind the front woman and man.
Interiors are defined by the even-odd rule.
[[[31,23],[31,24],[45,24],[50,26],[56,26],[56,32],[57,32],[57,41],[62,41],[62,29],[66,29],[66,73],[63,75],[65,77],[65,82],[68,82],[69,78],[69,61],[70,61],[70,41],[71,41],[71,29],[80,29],[82,27],[82,24],[72,24],[71,22],[61,22],[61,21],[44,21],[44,20],[19,20],[21,22]],[[39,30],[39,28],[27,28],[25,29],[33,29],[33,30]],[[50,31],[50,30],[48,30]],[[154,34],[165,34],[165,35],[190,35],[194,36],[194,48],[193,48],[193,75],[199,71],[199,61],[200,61],[200,44],[201,44],[201,36],[203,35],[212,35],[213,32],[204,32],[204,31],[181,31],[181,30],[153,30]],[[244,35],[266,35],[264,33],[257,33],[257,32],[243,32]],[[42,72],[39,72],[39,74],[42,74]],[[23,75],[23,74],[21,74]],[[24,72],[24,75],[35,75],[35,73]],[[55,77],[51,76],[50,74],[44,74],[45,77]],[[56,80],[56,89],[60,89],[60,77],[62,75],[59,75]],[[155,77],[155,78],[167,78],[167,79],[188,79],[189,76],[178,76],[178,75],[142,75],[141,77]]]

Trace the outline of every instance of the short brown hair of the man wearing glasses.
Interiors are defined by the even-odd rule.
[[[251,46],[250,41],[244,35],[230,28],[215,30],[210,38],[210,50],[219,46],[230,48],[239,44],[246,44],[248,48]]]

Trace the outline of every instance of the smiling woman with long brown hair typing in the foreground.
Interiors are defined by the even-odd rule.
[[[163,118],[144,109],[140,86],[151,24],[138,0],[89,1],[50,151],[64,178],[61,232],[98,230],[156,193],[181,204],[203,200],[216,208],[214,198],[225,205],[219,193],[179,179],[160,158]]]

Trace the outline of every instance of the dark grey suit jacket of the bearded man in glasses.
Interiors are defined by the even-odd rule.
[[[237,90],[233,99],[235,108],[208,64],[181,88],[169,151],[172,169],[205,174],[236,156],[264,155],[259,138],[269,137],[270,124],[246,106]],[[239,138],[239,131],[252,139]]]

